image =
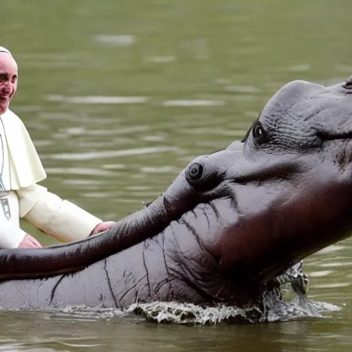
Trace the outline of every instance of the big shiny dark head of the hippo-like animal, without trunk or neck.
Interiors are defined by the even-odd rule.
[[[163,197],[236,281],[265,282],[349,236],[352,80],[285,85],[242,142],[195,159]]]

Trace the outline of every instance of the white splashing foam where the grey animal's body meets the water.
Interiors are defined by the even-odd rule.
[[[303,274],[302,262],[289,268],[276,278],[277,286],[265,290],[256,304],[248,307],[215,305],[206,307],[192,303],[153,302],[134,303],[125,311],[120,309],[96,309],[86,306],[66,307],[63,313],[85,318],[134,317],[158,323],[183,325],[214,325],[226,323],[258,323],[294,320],[297,318],[321,318],[322,312],[340,310],[329,303],[314,302],[307,297],[307,276]],[[290,287],[294,298],[286,301],[283,290]]]

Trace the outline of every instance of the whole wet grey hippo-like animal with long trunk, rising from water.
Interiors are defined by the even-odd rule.
[[[352,230],[352,79],[288,83],[244,139],[190,162],[113,228],[0,250],[3,309],[135,302],[247,307]]]

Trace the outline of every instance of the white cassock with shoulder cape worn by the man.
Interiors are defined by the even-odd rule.
[[[45,178],[23,122],[6,111],[0,115],[0,248],[17,248],[23,240],[20,217],[63,242],[86,238],[102,222],[36,184]]]

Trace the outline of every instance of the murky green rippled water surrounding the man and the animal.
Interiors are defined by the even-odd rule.
[[[1,0],[1,45],[20,67],[12,109],[43,184],[102,219],[139,209],[193,157],[243,137],[287,81],[349,77],[351,12],[350,0]],[[351,245],[306,261],[309,296],[342,308],[324,318],[190,327],[2,312],[0,351],[351,351]]]

